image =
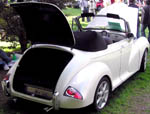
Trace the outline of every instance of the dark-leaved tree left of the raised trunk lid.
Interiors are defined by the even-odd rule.
[[[19,41],[21,51],[23,52],[27,48],[27,41],[20,20],[20,17],[16,15],[11,7],[6,6],[4,2],[0,1],[0,29],[6,33],[5,40],[11,42]]]

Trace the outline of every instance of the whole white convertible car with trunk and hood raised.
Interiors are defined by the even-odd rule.
[[[78,31],[73,32],[53,4],[11,6],[20,15],[32,46],[2,81],[8,96],[55,110],[93,105],[99,111],[115,88],[146,69],[149,43],[145,37],[137,38],[135,8],[108,6],[86,27],[77,17]]]

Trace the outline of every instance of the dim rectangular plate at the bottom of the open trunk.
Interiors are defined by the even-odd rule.
[[[25,86],[26,86],[26,92],[32,96],[52,99],[53,92],[50,89],[41,88],[30,84],[25,84]]]

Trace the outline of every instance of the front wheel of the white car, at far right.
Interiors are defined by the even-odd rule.
[[[148,54],[148,51],[145,50],[143,57],[142,57],[141,67],[140,67],[141,72],[144,72],[146,70],[147,54]]]

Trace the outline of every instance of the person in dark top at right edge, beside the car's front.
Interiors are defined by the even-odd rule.
[[[141,17],[141,35],[145,35],[145,29],[148,27],[148,41],[150,42],[150,0],[145,0],[145,6],[142,9]]]

